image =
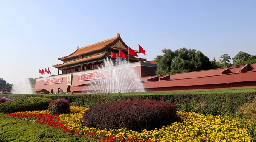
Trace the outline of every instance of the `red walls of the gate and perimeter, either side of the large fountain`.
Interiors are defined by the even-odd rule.
[[[155,75],[156,67],[153,67],[150,63],[139,62],[132,64],[133,68],[138,72],[140,80],[143,82],[143,86],[147,92],[256,86],[256,64],[162,76]],[[86,84],[88,81],[78,81],[78,75],[91,72],[95,72],[95,70],[73,73],[70,91],[81,93],[84,88],[83,84]],[[62,78],[63,81],[61,84],[44,85],[44,80],[52,78]],[[39,78],[36,81],[35,89],[39,88],[44,88],[49,92],[51,92],[51,89],[53,89],[53,92],[58,92],[58,88],[61,88],[64,92],[67,92],[69,89],[67,85],[67,74]]]

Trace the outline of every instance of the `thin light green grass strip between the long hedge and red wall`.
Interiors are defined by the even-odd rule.
[[[229,93],[248,93],[256,92],[256,87],[241,87],[241,88],[231,88],[231,89],[210,89],[210,90],[191,90],[191,91],[168,91],[168,92],[136,92],[136,93],[121,93],[123,96],[134,96],[134,95],[179,95],[179,94],[229,94]],[[22,94],[23,95],[23,94]],[[19,94],[2,94],[3,97],[16,97],[22,96]],[[24,94],[25,96],[32,96],[31,94]],[[47,97],[55,96],[56,94],[35,94],[34,97]],[[71,94],[58,94],[58,96],[70,96]],[[88,96],[88,95],[102,95],[102,94],[72,94],[76,96]],[[110,94],[113,96],[119,96],[119,94]]]

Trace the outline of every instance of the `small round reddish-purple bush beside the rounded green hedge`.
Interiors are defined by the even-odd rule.
[[[52,114],[63,114],[70,111],[69,102],[66,99],[52,100],[48,106],[49,111]]]

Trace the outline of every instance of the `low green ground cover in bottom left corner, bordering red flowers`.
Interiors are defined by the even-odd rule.
[[[0,114],[0,142],[100,142],[49,126]]]

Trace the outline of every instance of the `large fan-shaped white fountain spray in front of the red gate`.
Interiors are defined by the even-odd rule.
[[[82,93],[145,92],[137,72],[125,59],[116,58],[114,64],[107,57],[104,66],[99,67],[96,72],[101,77],[86,84]]]

